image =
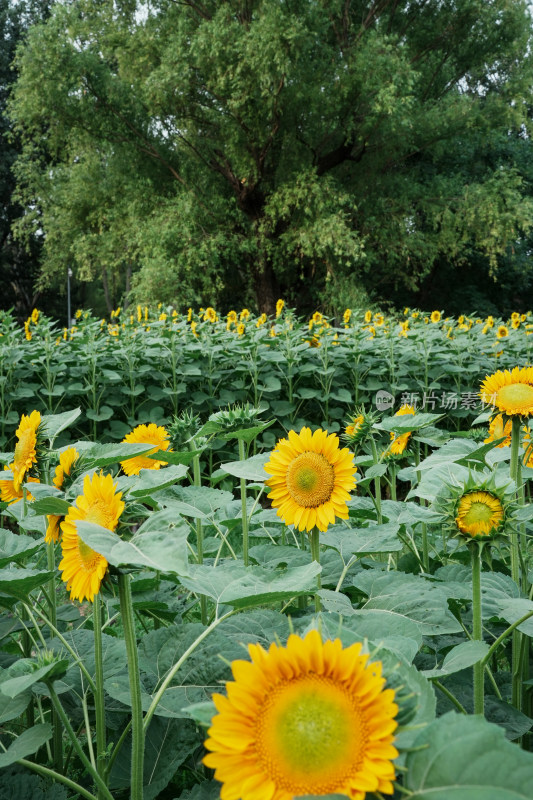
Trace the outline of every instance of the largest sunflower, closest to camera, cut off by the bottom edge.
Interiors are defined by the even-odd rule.
[[[286,647],[249,645],[234,661],[227,697],[213,695],[204,764],[222,800],[292,800],[300,795],[392,794],[398,706],[381,662],[361,644],[322,642],[316,630]]]

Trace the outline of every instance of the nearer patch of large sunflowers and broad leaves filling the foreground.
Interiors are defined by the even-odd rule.
[[[397,396],[340,437],[270,405],[107,443],[24,413],[0,798],[526,800],[533,368],[475,395],[469,435]]]

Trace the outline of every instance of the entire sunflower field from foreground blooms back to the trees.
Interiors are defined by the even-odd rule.
[[[3,314],[0,800],[529,800],[532,333]]]

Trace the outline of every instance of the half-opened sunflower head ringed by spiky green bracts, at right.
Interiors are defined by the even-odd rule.
[[[494,539],[510,533],[515,484],[503,473],[470,472],[456,468],[456,483],[446,485],[435,500],[435,510],[444,515],[452,535],[471,539]]]

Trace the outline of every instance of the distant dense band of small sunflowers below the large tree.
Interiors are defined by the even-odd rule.
[[[110,321],[76,317],[63,330],[35,310],[26,334],[11,315],[0,319],[4,449],[30,402],[43,414],[81,408],[73,441],[120,442],[139,424],[168,426],[183,410],[205,419],[248,403],[276,420],[257,442],[265,449],[289,428],[340,434],[354,406],[375,409],[383,392],[388,408],[444,412],[447,429],[468,432],[482,411],[483,376],[502,363],[530,363],[533,347],[533,317],[518,313],[504,322],[347,309],[337,321],[320,312],[307,321],[279,301],[269,319],[248,309],[222,316],[141,306],[117,309]],[[227,457],[214,450],[211,466]]]

